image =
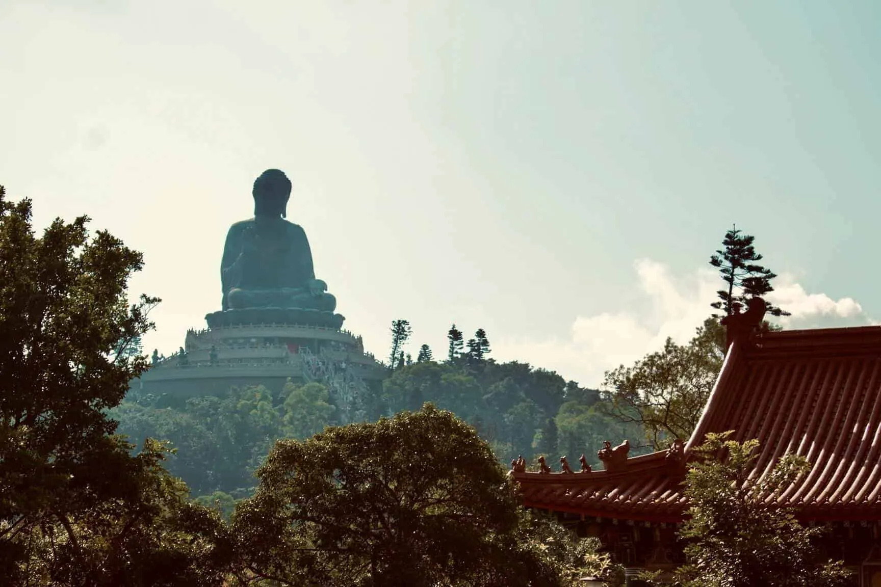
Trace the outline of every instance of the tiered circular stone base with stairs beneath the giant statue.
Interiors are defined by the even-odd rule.
[[[356,421],[359,398],[379,385],[386,367],[364,351],[360,336],[340,325],[344,318],[315,310],[253,308],[212,312],[208,328],[189,330],[172,356],[155,356],[151,368],[131,382],[132,393],[182,401],[223,396],[233,386],[285,381],[327,385],[341,415]]]

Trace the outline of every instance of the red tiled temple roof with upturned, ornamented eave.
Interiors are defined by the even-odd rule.
[[[759,440],[753,475],[786,452],[811,472],[778,499],[804,520],[881,520],[881,327],[766,333],[733,341],[683,451],[621,461],[611,471],[512,474],[528,507],[677,522],[686,462],[708,432]],[[608,468],[608,467],[607,467]]]

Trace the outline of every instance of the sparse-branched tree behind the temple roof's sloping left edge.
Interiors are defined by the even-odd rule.
[[[668,338],[662,350],[632,367],[607,371],[603,397],[609,415],[639,423],[655,451],[691,436],[722,369],[724,335],[718,320],[709,318],[688,344]]]

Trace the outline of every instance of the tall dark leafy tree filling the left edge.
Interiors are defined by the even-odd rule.
[[[41,237],[31,218],[31,202],[7,202],[0,187],[0,576],[219,584],[204,560],[216,550],[189,532],[220,532],[210,512],[184,502],[164,447],[130,454],[107,416],[147,366],[116,352],[152,328],[159,302],[129,305],[141,254],[90,235],[87,216],[56,219]]]

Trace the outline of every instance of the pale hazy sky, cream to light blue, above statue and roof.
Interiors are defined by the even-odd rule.
[[[784,327],[881,319],[881,4],[0,0],[0,184],[144,253],[147,351],[219,310],[285,171],[344,327],[581,385],[712,312],[756,237]]]

